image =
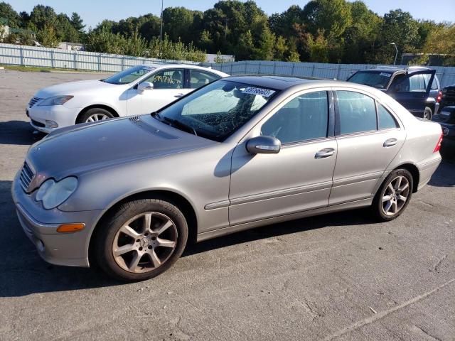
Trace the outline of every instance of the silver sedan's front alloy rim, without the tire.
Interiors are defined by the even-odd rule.
[[[145,212],[128,220],[114,237],[112,254],[122,269],[144,273],[157,269],[177,245],[176,224],[159,212]]]

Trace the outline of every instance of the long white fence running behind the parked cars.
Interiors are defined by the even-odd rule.
[[[109,55],[84,51],[67,51],[56,48],[38,48],[33,46],[0,43],[0,64],[26,65],[38,67],[60,67],[73,70],[92,70],[119,72],[127,67],[139,64],[187,63],[188,61],[162,60],[154,58],[130,57],[127,55]],[[336,78],[346,80],[357,70],[370,69],[377,65],[368,64],[323,64],[323,63],[287,63],[273,61],[242,61],[232,63],[202,63],[230,75],[262,74],[288,75],[296,77]],[[455,67],[434,66],[441,85],[455,84]]]

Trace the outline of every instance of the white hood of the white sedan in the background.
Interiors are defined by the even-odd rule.
[[[121,87],[122,85],[109,84],[101,82],[100,80],[81,80],[80,82],[69,82],[51,87],[45,87],[44,89],[36,92],[34,97],[38,98],[49,98],[53,96],[77,94],[80,92],[93,92],[94,90],[108,89],[112,87]]]

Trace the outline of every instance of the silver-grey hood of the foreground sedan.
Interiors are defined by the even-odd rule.
[[[119,163],[163,157],[211,144],[217,142],[143,115],[53,131],[31,146],[27,162],[39,175],[38,186],[46,178],[59,180],[68,175],[77,176]]]

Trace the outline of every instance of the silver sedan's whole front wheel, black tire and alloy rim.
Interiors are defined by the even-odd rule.
[[[143,281],[169,269],[181,256],[188,224],[166,200],[143,199],[119,207],[95,239],[97,263],[109,276]]]

